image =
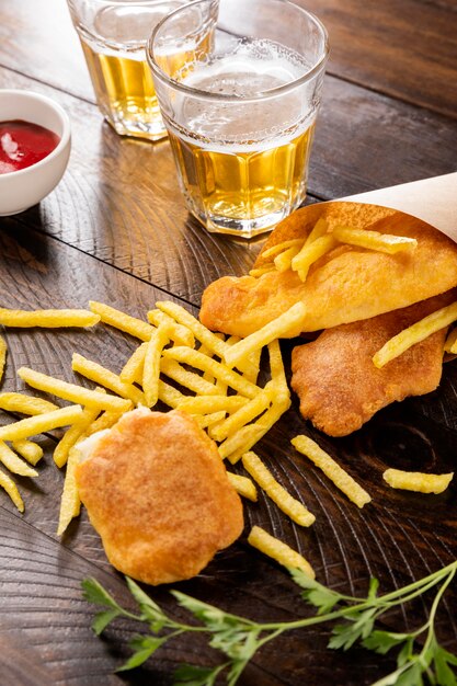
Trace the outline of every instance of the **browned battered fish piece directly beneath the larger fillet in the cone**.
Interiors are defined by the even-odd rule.
[[[381,369],[373,355],[402,329],[457,299],[457,289],[373,319],[323,331],[294,348],[292,387],[300,412],[329,436],[346,436],[378,410],[438,386],[443,367],[442,329]]]

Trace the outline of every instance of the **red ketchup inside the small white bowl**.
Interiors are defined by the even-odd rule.
[[[0,122],[0,174],[39,162],[53,152],[59,140],[54,132],[31,122]]]

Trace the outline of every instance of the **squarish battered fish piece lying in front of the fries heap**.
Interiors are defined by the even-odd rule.
[[[190,579],[240,536],[240,498],[188,414],[134,410],[81,446],[81,501],[124,574],[152,585]]]

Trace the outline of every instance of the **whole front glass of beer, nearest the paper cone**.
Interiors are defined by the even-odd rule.
[[[328,57],[315,15],[288,0],[196,0],[156,26],[147,56],[182,191],[208,231],[250,238],[304,202]]]

